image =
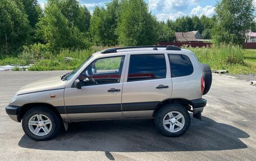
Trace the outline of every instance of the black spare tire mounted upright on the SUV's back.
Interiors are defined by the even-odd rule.
[[[201,64],[204,77],[204,92],[203,95],[207,94],[212,85],[212,70],[208,65]]]

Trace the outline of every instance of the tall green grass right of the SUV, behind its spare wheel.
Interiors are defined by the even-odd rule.
[[[200,63],[208,64],[212,70],[228,70],[230,73],[256,73],[256,50],[230,47],[187,48],[193,51]]]

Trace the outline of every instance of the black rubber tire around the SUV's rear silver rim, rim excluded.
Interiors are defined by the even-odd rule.
[[[170,112],[179,112],[183,116],[183,118],[181,118],[181,119],[184,119],[184,126],[177,132],[167,131],[166,127],[164,127],[164,125],[163,125],[164,117]],[[177,121],[180,121],[181,119],[178,119]],[[189,115],[189,112],[182,105],[167,104],[167,105],[164,105],[164,107],[159,109],[159,111],[157,112],[157,116],[155,119],[155,125],[160,134],[167,136],[167,137],[178,137],[178,136],[183,135],[189,129],[190,115]],[[170,124],[170,126],[171,126],[171,124]],[[176,126],[176,128],[177,128],[177,126]]]

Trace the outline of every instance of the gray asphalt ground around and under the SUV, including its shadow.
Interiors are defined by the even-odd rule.
[[[65,71],[0,72],[0,160],[256,160],[256,86],[213,75],[203,121],[181,137],[159,135],[152,120],[71,123],[53,140],[29,139],[4,107],[30,81]]]

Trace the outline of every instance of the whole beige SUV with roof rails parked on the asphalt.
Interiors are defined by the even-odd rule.
[[[34,140],[52,139],[70,122],[125,118],[155,119],[161,134],[175,137],[188,130],[189,112],[201,119],[211,82],[211,69],[189,50],[110,48],[70,73],[22,87],[6,112]]]

